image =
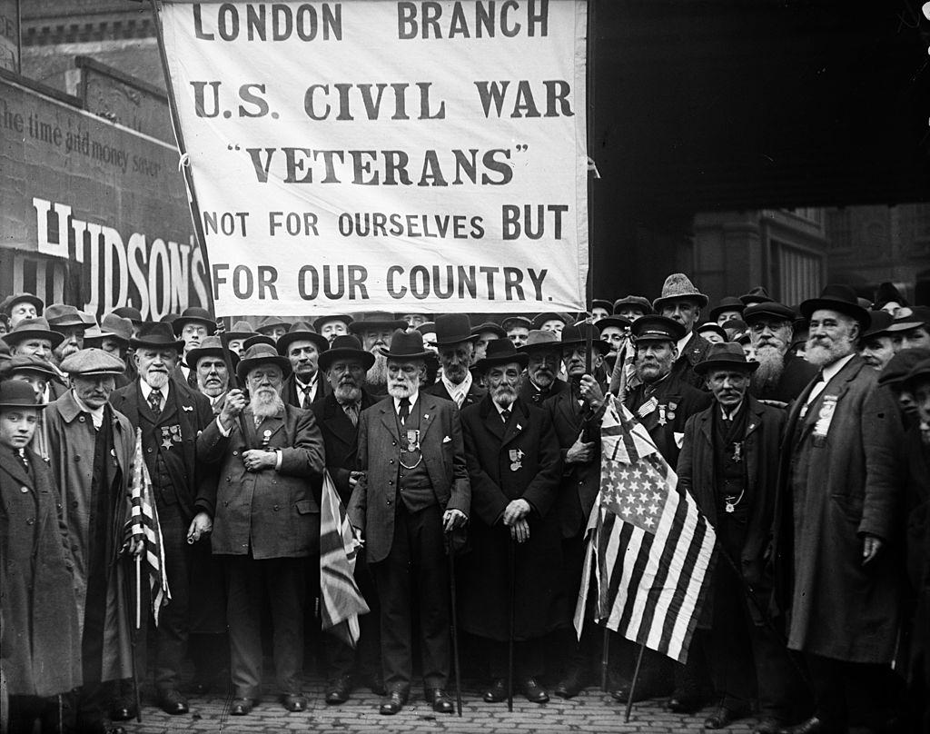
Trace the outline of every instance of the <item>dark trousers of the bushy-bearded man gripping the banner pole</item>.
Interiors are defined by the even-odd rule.
[[[260,698],[261,603],[272,610],[274,670],[280,693],[299,693],[303,667],[303,613],[307,599],[305,558],[255,560],[251,554],[224,556],[227,619],[235,697]]]

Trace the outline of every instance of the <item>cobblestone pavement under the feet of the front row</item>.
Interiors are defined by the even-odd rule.
[[[411,700],[400,714],[382,716],[378,713],[380,697],[367,688],[358,688],[350,701],[340,706],[327,706],[323,701],[323,684],[308,681],[305,688],[310,707],[306,712],[290,714],[268,692],[264,700],[247,716],[230,716],[228,701],[219,695],[193,698],[191,713],[169,716],[143,699],[141,724],[126,723],[129,734],[162,734],[187,731],[258,734],[259,732],[463,732],[463,734],[498,734],[500,732],[656,732],[685,734],[703,731],[702,722],[709,710],[693,716],[670,714],[664,701],[644,701],[633,706],[630,723],[623,723],[624,706],[599,689],[589,688],[572,699],[553,697],[549,703],[529,703],[522,696],[514,697],[513,713],[506,703],[481,701],[476,685],[463,689],[462,717],[456,714],[434,714],[421,699]],[[414,691],[416,692],[416,691]],[[746,734],[752,731],[755,719],[743,719],[723,731]]]

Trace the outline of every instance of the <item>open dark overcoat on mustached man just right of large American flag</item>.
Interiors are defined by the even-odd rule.
[[[743,579],[749,584],[763,609],[768,607],[772,593],[771,567],[767,567],[766,554],[772,542],[772,525],[775,518],[777,494],[778,447],[785,425],[785,411],[766,406],[747,396],[748,411],[746,432],[743,434],[743,457],[746,462],[746,498],[749,505],[746,536],[742,553],[733,561],[739,567]],[[714,476],[713,411],[720,410],[714,404],[692,416],[684,426],[684,444],[678,458],[678,489],[687,491],[697,502],[700,511],[707,516],[711,526],[717,525],[717,508],[720,505]],[[717,566],[727,565],[718,558]],[[729,573],[728,568],[724,573]],[[712,619],[713,600],[708,598],[702,613],[702,623]],[[753,604],[748,605],[757,624],[764,621],[762,611]]]

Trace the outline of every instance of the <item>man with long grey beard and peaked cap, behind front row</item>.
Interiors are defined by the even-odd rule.
[[[774,300],[753,303],[743,312],[759,363],[750,394],[769,405],[786,407],[817,374],[817,367],[790,350],[796,317],[793,309]]]

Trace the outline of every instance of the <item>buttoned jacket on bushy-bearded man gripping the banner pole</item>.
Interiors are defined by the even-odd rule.
[[[244,411],[248,435],[239,422],[228,436],[210,421],[197,438],[197,458],[219,469],[219,481],[197,497],[196,507],[213,517],[214,554],[292,558],[315,554],[320,540],[319,479],[325,467],[323,436],[309,410],[285,406],[255,428]],[[267,441],[266,441],[267,437]],[[247,472],[242,453],[263,444],[281,451],[278,469]]]

